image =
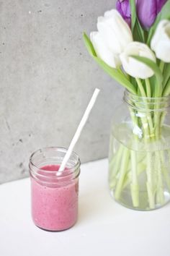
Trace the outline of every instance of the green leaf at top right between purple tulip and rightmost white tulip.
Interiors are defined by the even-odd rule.
[[[170,20],[170,0],[166,1],[166,4],[164,4],[164,7],[162,7],[161,12],[159,12],[155,22],[153,23],[152,27],[149,30],[147,41],[148,46],[150,46],[151,38],[153,37],[158,22],[160,22],[161,20]]]

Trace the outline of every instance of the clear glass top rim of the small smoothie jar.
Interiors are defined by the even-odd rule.
[[[63,153],[66,153],[67,152],[67,148],[63,148],[63,147],[45,147],[45,148],[40,148],[36,151],[34,151],[31,155],[30,155],[30,163],[29,163],[29,166],[30,166],[30,169],[32,171],[32,167],[35,169],[35,172],[36,171],[41,171],[41,175],[40,176],[43,176],[42,174],[57,174],[58,171],[49,171],[49,170],[45,170],[45,168],[41,168],[40,166],[37,166],[37,164],[35,164],[33,161],[32,161],[32,158],[37,154],[37,153],[43,153],[43,151],[47,151],[47,150],[56,150],[56,152],[58,150],[60,150],[61,152]],[[50,152],[50,151],[49,151]],[[77,170],[79,168],[79,166],[81,165],[81,161],[80,161],[80,158],[79,158],[79,155],[77,153],[75,153],[74,151],[71,153],[71,156],[75,157],[76,158],[76,164],[69,167],[67,166],[66,167],[66,170],[62,172],[62,175],[60,176],[57,176],[58,179],[62,178],[62,177],[66,177],[66,176],[69,176],[71,174],[73,174],[74,170]],[[71,158],[71,157],[70,157]],[[69,161],[69,160],[68,160]],[[79,175],[79,174],[78,174]]]

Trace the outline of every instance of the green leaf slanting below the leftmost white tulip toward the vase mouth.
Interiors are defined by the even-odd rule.
[[[112,67],[109,67],[102,59],[99,57],[94,56],[95,61],[99,64],[102,69],[104,69],[107,74],[109,74],[110,77],[114,78],[117,82],[119,82],[121,85],[123,85],[127,90],[130,91],[130,93],[136,94],[136,90],[134,86],[131,84],[131,82],[128,80],[128,78],[120,72],[118,69],[114,69]]]

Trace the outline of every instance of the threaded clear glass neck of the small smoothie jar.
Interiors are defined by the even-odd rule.
[[[76,153],[71,153],[66,164],[66,170],[60,176],[57,176],[57,171],[49,171],[44,166],[60,166],[64,156],[66,155],[66,148],[42,148],[32,153],[30,157],[30,174],[32,178],[40,180],[48,184],[55,184],[76,179],[80,173],[80,159]]]

